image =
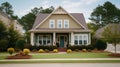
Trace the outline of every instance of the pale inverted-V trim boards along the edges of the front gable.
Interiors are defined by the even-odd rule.
[[[61,8],[61,9],[63,9],[61,6],[59,6],[57,9],[59,9],[59,8]],[[56,10],[57,10],[56,9]],[[44,21],[46,21],[52,14],[54,14],[54,12],[56,11],[56,10],[54,10],[49,16],[47,16],[40,24],[38,24],[34,29],[36,29],[36,28],[38,28]],[[68,14],[73,20],[75,20],[79,25],[81,25],[84,29],[86,29],[86,27],[84,27],[81,23],[79,23],[78,22],[78,20],[76,20],[70,13],[68,13],[65,9],[63,9],[65,12],[66,12],[66,14]]]

